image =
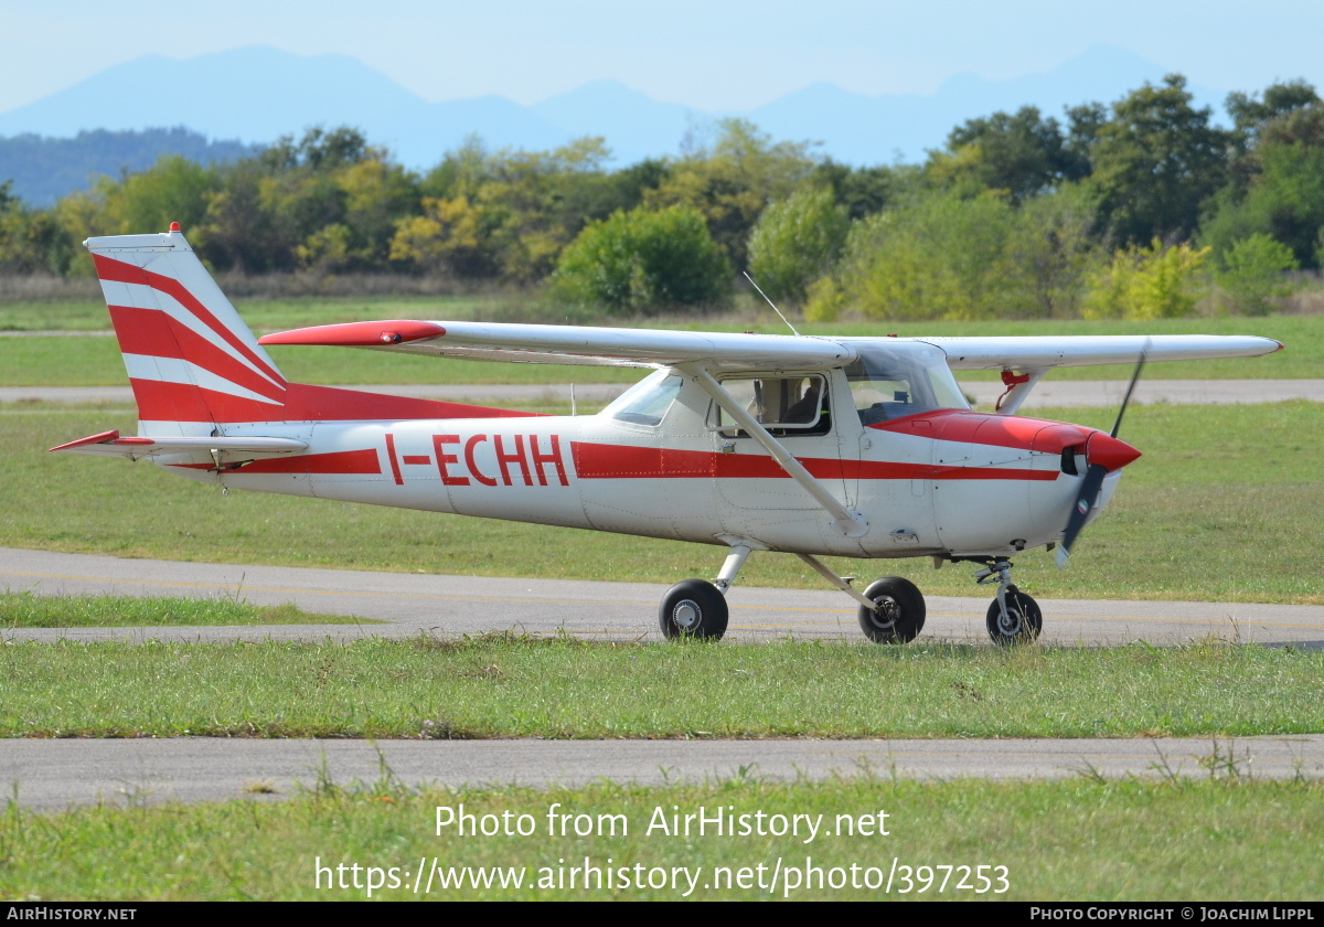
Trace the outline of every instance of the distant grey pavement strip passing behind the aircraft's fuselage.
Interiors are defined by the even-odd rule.
[[[575,397],[585,405],[609,403],[630,384],[581,383]],[[571,400],[568,383],[477,384],[477,385],[388,385],[346,387],[389,396],[417,396],[451,403],[520,403],[530,400]],[[965,381],[961,388],[981,404],[992,405],[1002,393],[1000,383]],[[1127,392],[1125,380],[1045,380],[1022,408],[1035,407],[1116,407]],[[1133,403],[1152,404],[1238,404],[1283,403],[1294,399],[1324,403],[1324,380],[1141,380]],[[0,403],[45,400],[50,403],[123,403],[132,407],[128,387],[3,387]]]

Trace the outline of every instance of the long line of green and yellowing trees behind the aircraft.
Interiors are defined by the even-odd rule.
[[[216,270],[508,283],[616,314],[723,306],[744,269],[814,319],[1155,318],[1210,282],[1263,313],[1324,262],[1324,102],[1291,81],[1226,110],[1221,127],[1173,74],[1063,119],[969,119],[923,163],[874,167],[739,119],[624,168],[601,139],[473,139],[422,173],[312,128],[226,164],[162,158],[49,209],[0,184],[0,271],[87,274],[83,237],[179,221]]]

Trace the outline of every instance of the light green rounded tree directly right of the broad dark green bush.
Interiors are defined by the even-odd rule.
[[[749,270],[776,299],[804,303],[846,244],[850,219],[829,189],[801,189],[763,211],[749,236]]]

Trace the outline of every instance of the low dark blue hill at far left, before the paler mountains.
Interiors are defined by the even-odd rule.
[[[52,207],[102,176],[143,171],[162,155],[183,155],[199,164],[246,158],[256,151],[241,142],[208,142],[188,128],[148,128],[110,132],[98,128],[71,139],[16,135],[0,138],[0,183],[13,180],[11,193],[34,207]]]

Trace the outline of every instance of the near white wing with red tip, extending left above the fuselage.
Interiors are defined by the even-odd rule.
[[[809,335],[755,335],[486,322],[351,322],[265,335],[260,344],[369,347],[526,364],[731,369],[826,368],[857,356],[849,344]]]

